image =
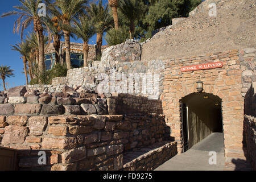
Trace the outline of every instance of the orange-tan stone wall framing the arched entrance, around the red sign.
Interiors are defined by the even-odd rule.
[[[222,68],[181,72],[181,67],[218,61],[224,63]],[[213,52],[182,59],[165,60],[165,62],[164,90],[161,100],[166,123],[171,127],[171,137],[178,142],[177,150],[183,151],[180,100],[191,93],[196,93],[196,81],[201,80],[204,85],[203,93],[213,94],[222,100],[226,159],[231,160],[233,157],[244,159],[242,71],[239,51],[234,49]]]

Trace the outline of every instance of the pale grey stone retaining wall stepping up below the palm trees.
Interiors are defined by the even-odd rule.
[[[126,59],[123,55],[127,55]],[[71,87],[88,86],[96,93],[141,94],[159,99],[163,91],[164,63],[161,60],[141,61],[140,55],[141,44],[127,39],[121,45],[106,48],[101,61],[94,61],[89,67],[69,69],[66,78],[54,78],[53,86],[42,85],[42,88],[57,91],[63,86],[59,84],[67,84]],[[129,85],[131,79],[134,85]],[[59,88],[55,85],[59,85]],[[40,87],[34,86],[42,90]]]

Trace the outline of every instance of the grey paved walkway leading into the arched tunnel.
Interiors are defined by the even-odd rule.
[[[216,151],[217,164],[209,164],[209,151]],[[155,171],[222,171],[224,170],[223,133],[212,133],[187,152],[176,155]]]

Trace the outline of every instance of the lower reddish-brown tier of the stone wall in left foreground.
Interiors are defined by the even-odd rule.
[[[1,116],[1,146],[18,150],[20,170],[118,170],[122,154],[163,140],[158,115]],[[47,164],[38,163],[45,151]]]

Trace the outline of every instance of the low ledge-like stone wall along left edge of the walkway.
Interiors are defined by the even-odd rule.
[[[177,154],[177,142],[163,141],[123,154],[123,171],[152,171]]]

